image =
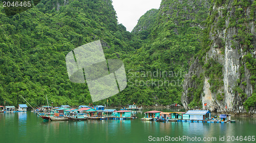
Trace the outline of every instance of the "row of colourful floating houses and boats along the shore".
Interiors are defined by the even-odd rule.
[[[32,107],[32,106],[31,106]],[[33,108],[33,107],[32,107]],[[0,112],[26,112],[27,104],[19,104],[15,106],[0,106]],[[136,119],[134,110],[142,110],[137,105],[129,105],[127,108],[105,109],[105,106],[87,106],[80,105],[78,108],[69,105],[61,105],[60,107],[41,106],[32,112],[42,118],[44,121],[84,121],[84,120],[133,120]],[[211,117],[209,110],[188,110],[186,112],[163,112],[157,110],[145,111],[141,121],[152,122],[201,122],[201,123],[234,123],[231,116],[227,114]]]

